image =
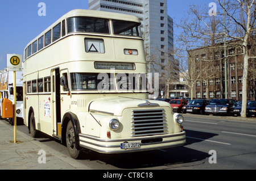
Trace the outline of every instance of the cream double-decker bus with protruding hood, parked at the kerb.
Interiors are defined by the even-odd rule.
[[[24,123],[67,145],[126,153],[185,144],[183,117],[149,100],[138,18],[72,10],[24,49]]]

